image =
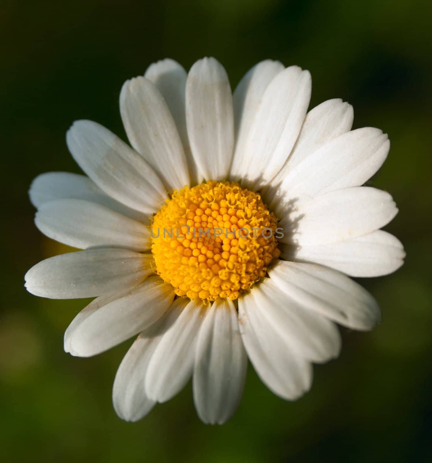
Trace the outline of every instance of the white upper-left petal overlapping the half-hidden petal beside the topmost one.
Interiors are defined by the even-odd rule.
[[[145,77],[126,81],[120,113],[132,147],[159,175],[168,191],[189,185],[183,145],[158,88]]]

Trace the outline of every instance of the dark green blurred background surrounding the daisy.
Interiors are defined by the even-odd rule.
[[[3,0],[0,9],[2,461],[432,461],[431,2]],[[123,81],[164,57],[189,69],[202,56],[223,63],[233,88],[262,59],[298,64],[312,74],[310,107],[343,98],[354,128],[388,132],[389,158],[371,184],[400,208],[387,230],[407,260],[361,281],[383,323],[344,330],[341,357],[315,367],[301,400],[274,396],[249,368],[223,426],[197,419],[190,385],[125,423],[111,386],[130,342],[89,359],[65,354],[63,332],[86,301],[23,287],[33,264],[68,251],[37,231],[27,190],[42,172],[79,172],[65,144],[75,119],[125,138]]]

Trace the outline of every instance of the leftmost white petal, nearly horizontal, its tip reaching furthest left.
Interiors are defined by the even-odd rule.
[[[51,299],[94,297],[133,288],[153,270],[151,254],[92,249],[49,257],[25,274],[31,294]]]

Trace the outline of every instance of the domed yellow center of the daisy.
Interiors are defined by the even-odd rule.
[[[235,300],[279,256],[277,219],[258,193],[207,181],[174,190],[154,215],[156,273],[191,299]]]

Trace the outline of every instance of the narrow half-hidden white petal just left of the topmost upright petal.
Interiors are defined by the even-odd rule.
[[[173,115],[183,144],[187,166],[189,168],[190,185],[199,183],[197,165],[192,156],[189,137],[186,129],[186,78],[183,66],[172,59],[164,59],[151,64],[144,74],[159,89]]]

